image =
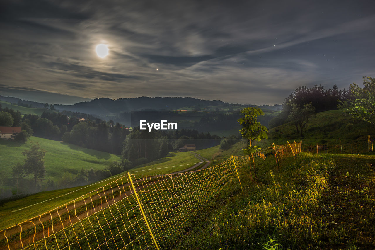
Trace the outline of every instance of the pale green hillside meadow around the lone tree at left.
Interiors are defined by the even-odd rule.
[[[112,161],[121,161],[119,155],[108,154],[93,149],[81,148],[68,143],[31,136],[26,143],[13,140],[0,140],[0,171],[8,175],[16,163],[23,163],[26,157],[21,153],[30,148],[31,142],[37,142],[45,149],[45,178],[61,178],[66,171],[77,174],[82,168],[104,169]]]

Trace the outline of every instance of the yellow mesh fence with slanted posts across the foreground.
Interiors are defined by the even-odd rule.
[[[302,142],[300,142],[302,143]],[[278,166],[300,143],[232,156],[216,166],[167,175],[127,173],[77,199],[0,231],[1,249],[166,249],[220,197],[242,189],[256,168]],[[276,164],[275,164],[276,162]]]

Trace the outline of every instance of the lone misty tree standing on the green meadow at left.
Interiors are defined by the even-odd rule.
[[[27,175],[34,175],[34,184],[36,184],[38,178],[43,178],[46,173],[44,167],[44,155],[46,154],[46,151],[40,149],[39,143],[32,142],[30,150],[25,150],[22,154],[26,156],[23,165],[24,171]]]

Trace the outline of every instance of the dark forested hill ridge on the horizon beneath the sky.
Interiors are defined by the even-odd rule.
[[[99,98],[73,105],[55,105],[58,110],[78,111],[90,114],[108,114],[116,112],[140,111],[145,109],[174,110],[186,106],[224,105],[223,101],[201,100],[191,97],[138,97],[138,98]]]

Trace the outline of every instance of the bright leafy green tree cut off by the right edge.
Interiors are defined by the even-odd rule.
[[[362,77],[363,88],[350,84],[354,99],[340,101],[339,108],[348,108],[347,112],[354,119],[362,119],[375,125],[375,78]]]

